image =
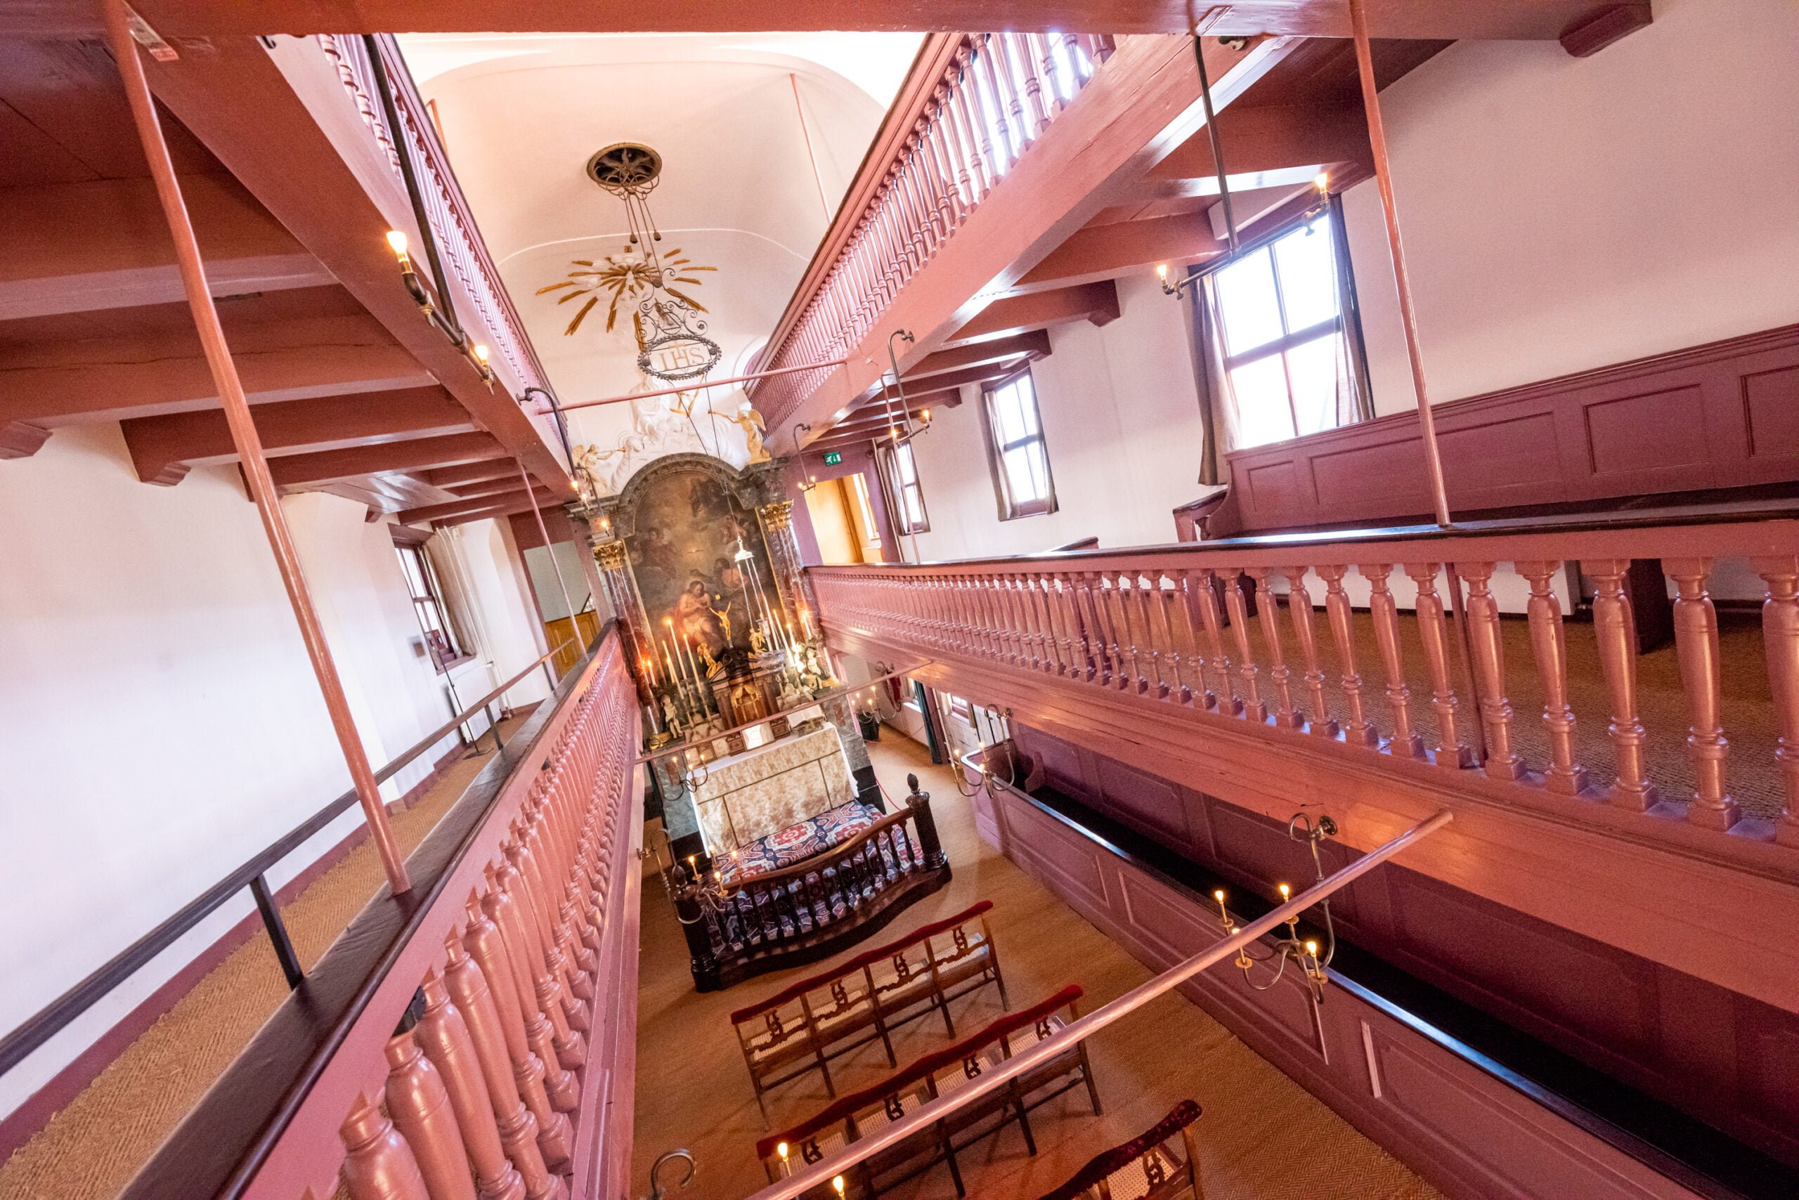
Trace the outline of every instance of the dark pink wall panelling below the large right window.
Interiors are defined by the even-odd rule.
[[[1437,405],[1455,511],[1799,482],[1799,326]],[[1418,416],[1227,455],[1211,536],[1430,509]]]

